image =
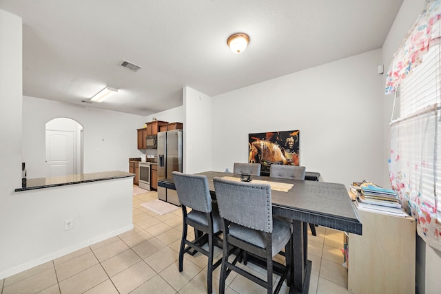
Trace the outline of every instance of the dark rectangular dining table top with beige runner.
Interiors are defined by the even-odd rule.
[[[214,192],[214,177],[240,177],[217,171],[205,171],[199,174],[208,177],[209,189],[212,192]],[[294,184],[287,192],[271,190],[275,215],[361,235],[362,224],[358,220],[345,185],[310,180],[269,178],[267,176],[252,176],[252,178]],[[176,189],[173,178],[158,180],[158,186]]]

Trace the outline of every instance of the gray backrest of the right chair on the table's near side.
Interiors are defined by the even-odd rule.
[[[219,215],[240,226],[273,231],[271,186],[214,178]]]

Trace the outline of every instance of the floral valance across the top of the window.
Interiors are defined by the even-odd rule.
[[[440,6],[441,0],[427,1],[426,8],[404,38],[387,71],[386,94],[394,93],[407,74],[420,65],[422,55],[433,42],[440,41]]]

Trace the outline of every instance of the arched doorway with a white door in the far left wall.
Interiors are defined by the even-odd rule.
[[[45,125],[46,177],[83,174],[83,126],[70,118]]]

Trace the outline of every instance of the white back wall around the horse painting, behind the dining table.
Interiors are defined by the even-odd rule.
[[[213,169],[248,160],[248,134],[300,130],[300,165],[382,185],[381,50],[213,97]]]

